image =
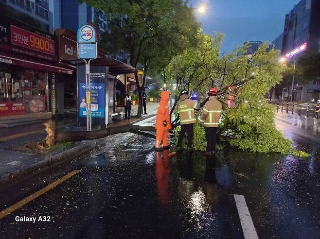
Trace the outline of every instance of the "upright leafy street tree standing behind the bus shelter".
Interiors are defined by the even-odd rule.
[[[108,53],[123,50],[129,54],[130,65],[161,71],[174,54],[189,46],[199,24],[188,0],[80,0],[103,10],[108,30],[102,34],[102,44]],[[141,85],[138,116],[142,112]]]

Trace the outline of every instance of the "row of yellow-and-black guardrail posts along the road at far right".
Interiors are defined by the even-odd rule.
[[[305,112],[306,117],[309,117],[311,115],[311,112],[313,112],[313,118],[314,119],[319,119],[319,108],[320,108],[320,104],[318,103],[316,105],[316,109],[311,109],[310,108],[310,103],[307,103],[306,108],[302,107],[302,102],[270,102],[273,104],[277,104],[277,112],[279,112],[279,110],[281,110],[281,112],[284,112],[284,107],[285,107],[285,113],[289,113],[289,109],[291,109],[291,114],[294,114],[294,109],[298,109],[298,115],[301,116],[301,114],[303,112]],[[285,105],[284,105],[285,104]],[[298,104],[298,106],[295,106],[296,104]]]

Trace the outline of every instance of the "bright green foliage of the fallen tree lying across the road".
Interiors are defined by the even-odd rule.
[[[265,99],[270,88],[282,80],[284,66],[279,64],[279,52],[267,51],[267,44],[263,44],[252,55],[244,54],[247,45],[220,55],[222,39],[223,34],[211,37],[198,32],[197,46],[173,57],[166,68],[168,84],[178,86],[176,96],[182,89],[205,95],[210,87],[216,87],[224,105],[219,134],[232,146],[252,152],[288,153],[290,141],[275,128],[273,106]],[[231,95],[235,96],[234,106],[227,110],[226,100]]]

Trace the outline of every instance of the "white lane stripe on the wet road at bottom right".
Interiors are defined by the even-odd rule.
[[[240,222],[245,239],[258,239],[257,232],[254,228],[252,218],[245,197],[242,195],[233,194],[235,204],[237,205]]]

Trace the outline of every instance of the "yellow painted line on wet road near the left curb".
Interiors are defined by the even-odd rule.
[[[72,176],[74,176],[75,174],[77,174],[79,172],[80,172],[79,170],[71,171],[71,172],[67,173],[66,175],[64,175],[62,178],[59,178],[58,180],[54,181],[53,183],[49,184],[48,186],[46,186],[46,187],[40,189],[39,191],[31,194],[30,196],[22,199],[18,203],[14,204],[12,206],[9,206],[8,208],[6,208],[6,209],[4,209],[3,211],[0,212],[0,219],[4,218],[8,214],[10,214],[13,211],[17,210],[21,206],[30,203],[31,201],[35,200],[37,197],[41,196],[42,194],[45,194],[47,191],[53,189],[55,186],[63,183],[64,181],[68,180],[69,178],[71,178]]]

